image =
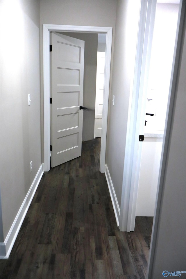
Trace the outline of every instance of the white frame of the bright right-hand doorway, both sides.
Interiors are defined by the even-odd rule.
[[[145,111],[143,108],[143,94],[145,93],[146,84],[144,80],[148,75],[149,58],[151,53],[152,44],[152,34],[153,26],[155,20],[155,10],[156,10],[156,0],[142,0],[141,10],[140,10],[140,22],[138,31],[138,41],[137,41],[137,52],[135,61],[135,73],[133,81],[133,91],[131,93],[130,100],[130,110],[128,115],[128,125],[127,125],[127,137],[126,137],[126,149],[125,149],[125,161],[124,161],[124,175],[123,175],[123,185],[121,193],[121,210],[119,219],[119,228],[121,231],[134,231],[135,226],[135,214],[137,205],[137,192],[139,184],[139,174],[140,174],[140,161],[141,161],[141,149],[142,146],[139,144],[139,135],[141,133],[141,117],[142,112]],[[180,24],[180,19],[183,21],[183,13],[185,1],[180,0],[180,9],[178,14],[178,27]],[[180,26],[180,28],[182,28]],[[178,50],[179,49],[178,40],[178,28],[175,40],[175,50],[174,58],[172,64],[172,74],[169,89],[169,100],[167,105],[167,114],[169,111],[169,118],[171,119],[172,106],[171,99],[174,99],[174,74],[177,71],[177,61],[178,61]],[[176,57],[177,55],[177,57]],[[175,58],[176,57],[176,58]],[[168,116],[167,116],[168,117]],[[166,154],[167,150],[167,140],[169,135],[169,122],[170,119],[166,118],[165,129],[164,129],[164,139],[162,146],[162,156],[160,162],[160,173],[158,179],[158,190],[156,196],[155,210],[158,212],[159,205],[157,205],[157,199],[161,196],[161,176],[163,176],[164,171],[164,161],[163,154]],[[166,157],[164,155],[164,157]],[[159,198],[160,199],[160,198]],[[154,216],[153,230],[157,224],[158,219],[156,215]],[[155,232],[156,233],[156,232]],[[153,231],[152,231],[153,236]],[[154,236],[155,237],[155,236]]]

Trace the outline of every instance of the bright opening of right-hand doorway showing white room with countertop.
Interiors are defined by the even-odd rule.
[[[155,210],[179,11],[178,1],[166,2],[157,1],[155,14],[136,216]]]

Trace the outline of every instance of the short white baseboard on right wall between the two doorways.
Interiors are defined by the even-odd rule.
[[[119,208],[119,203],[117,201],[116,193],[114,190],[114,186],[112,184],[112,180],[111,180],[107,165],[105,165],[105,177],[106,177],[108,189],[110,192],[110,197],[111,197],[112,206],[113,206],[115,217],[116,217],[117,226],[119,226],[120,208]]]

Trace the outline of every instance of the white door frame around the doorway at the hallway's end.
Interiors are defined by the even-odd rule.
[[[105,153],[108,118],[108,98],[110,84],[110,62],[112,47],[112,27],[73,26],[43,24],[43,95],[44,95],[44,171],[50,170],[50,31],[77,33],[105,33],[105,80],[103,92],[103,120],[101,134],[100,171],[105,172]]]

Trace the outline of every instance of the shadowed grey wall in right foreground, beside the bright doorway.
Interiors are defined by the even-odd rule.
[[[154,257],[151,256],[152,275],[163,278],[162,272],[186,271],[186,21],[176,83],[176,96],[171,120],[164,182],[160,201]],[[186,278],[182,274],[180,278]]]

